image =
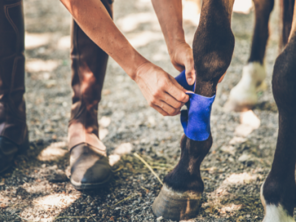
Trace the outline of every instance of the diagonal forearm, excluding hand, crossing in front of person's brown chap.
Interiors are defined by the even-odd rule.
[[[84,33],[135,78],[137,68],[148,62],[120,33],[100,0],[61,0]]]

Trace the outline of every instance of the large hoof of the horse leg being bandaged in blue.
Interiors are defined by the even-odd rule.
[[[163,185],[154,200],[152,211],[156,217],[180,221],[195,218],[199,210],[201,192],[176,192]]]

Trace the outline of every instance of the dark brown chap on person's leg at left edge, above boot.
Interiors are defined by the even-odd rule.
[[[28,147],[22,0],[0,0],[0,172]]]

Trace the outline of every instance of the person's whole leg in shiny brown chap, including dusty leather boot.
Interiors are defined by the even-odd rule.
[[[112,15],[109,0],[102,0]],[[98,104],[108,55],[72,23],[72,108],[69,122],[71,184],[76,189],[97,189],[112,178],[106,147],[99,140]]]

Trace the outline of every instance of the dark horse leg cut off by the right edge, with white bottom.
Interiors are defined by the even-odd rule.
[[[296,5],[295,5],[296,6]],[[296,8],[294,8],[294,11]],[[279,110],[279,133],[271,171],[261,186],[263,222],[294,222],[296,207],[296,13],[288,44],[276,59],[272,91]]]

